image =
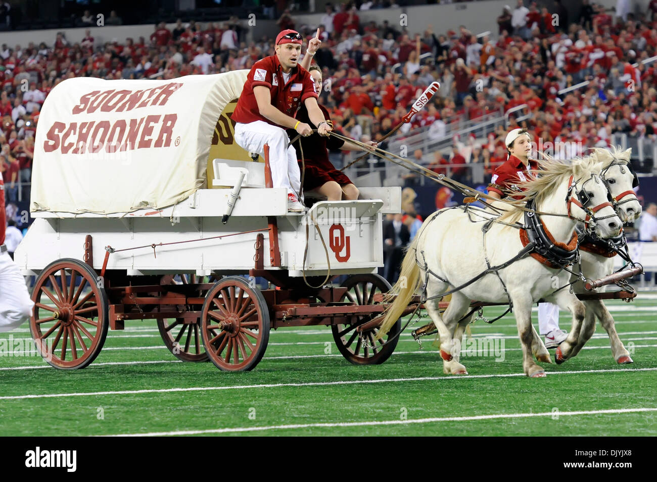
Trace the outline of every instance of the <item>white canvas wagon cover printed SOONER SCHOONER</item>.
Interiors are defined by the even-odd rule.
[[[58,84],[39,115],[30,210],[110,214],[189,197],[206,184],[217,118],[247,73]]]

